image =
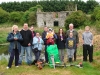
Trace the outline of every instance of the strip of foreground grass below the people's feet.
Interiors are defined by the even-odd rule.
[[[6,65],[7,62],[5,60],[0,62],[0,73],[4,73],[4,75],[100,75],[99,69],[89,62],[83,62],[83,68],[72,66],[53,69],[45,66],[42,70],[39,70],[34,65],[28,66],[25,63],[18,68],[13,64],[11,69],[6,69]]]

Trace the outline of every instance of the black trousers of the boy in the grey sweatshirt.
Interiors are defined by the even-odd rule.
[[[87,61],[89,55],[89,62],[93,61],[93,45],[83,45],[83,61]]]

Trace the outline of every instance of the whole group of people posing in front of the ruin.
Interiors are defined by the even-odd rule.
[[[90,27],[85,27],[85,32],[82,34],[83,39],[83,61],[93,61],[93,34],[90,32]],[[62,28],[58,33],[55,33],[52,28],[44,27],[42,35],[34,31],[34,27],[28,28],[28,24],[24,23],[23,29],[18,30],[17,25],[12,26],[12,32],[8,34],[7,41],[9,45],[9,62],[7,69],[12,67],[12,62],[15,57],[15,66],[22,65],[23,55],[26,56],[28,65],[32,65],[40,58],[41,50],[45,45],[45,63],[48,63],[47,46],[57,44],[60,61],[64,62],[65,49],[67,49],[68,61],[76,61],[77,46],[79,43],[78,32],[74,29],[74,25],[69,24],[69,30],[65,33]],[[32,61],[32,53],[35,55]]]

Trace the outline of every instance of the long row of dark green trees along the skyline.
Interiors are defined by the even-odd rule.
[[[87,2],[81,0],[40,0],[40,1],[24,1],[24,2],[8,2],[1,3],[0,6],[8,11],[27,11],[29,8],[36,5],[41,5],[43,11],[45,12],[55,12],[55,11],[65,11],[66,6],[70,3],[77,4],[77,9],[82,10],[85,13],[92,12],[96,5],[99,5],[98,2],[94,0],[88,0]],[[72,5],[73,6],[73,5]]]

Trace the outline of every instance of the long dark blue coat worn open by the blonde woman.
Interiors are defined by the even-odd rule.
[[[17,38],[18,38],[18,40],[16,41],[16,43],[17,43],[17,49],[18,49],[19,52],[20,52],[20,50],[21,50],[20,42],[23,40],[23,38],[22,38],[22,35],[20,34],[20,32],[17,32],[17,33],[16,33],[16,36],[17,36]],[[10,33],[8,34],[8,36],[7,36],[7,41],[10,42],[8,52],[11,53],[12,50],[14,49],[14,45],[15,45],[15,40],[14,40],[14,34],[13,34],[13,32],[10,32]]]

